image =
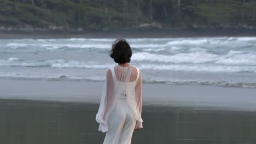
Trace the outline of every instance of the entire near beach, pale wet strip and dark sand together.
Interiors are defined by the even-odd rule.
[[[101,94],[95,87],[102,82],[0,83],[0,143],[103,142],[95,121]],[[255,91],[145,83],[144,128],[132,143],[256,143]]]

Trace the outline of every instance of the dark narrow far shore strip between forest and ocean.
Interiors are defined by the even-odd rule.
[[[117,31],[0,31],[0,39],[255,37],[248,29],[124,29]]]

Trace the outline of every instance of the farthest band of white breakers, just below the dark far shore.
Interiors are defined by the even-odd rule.
[[[21,39],[3,45],[6,49],[44,49],[44,50],[75,50],[75,49],[108,49],[115,39]],[[176,51],[184,47],[253,47],[255,37],[224,37],[224,38],[141,38],[127,39],[133,49],[142,51]]]

